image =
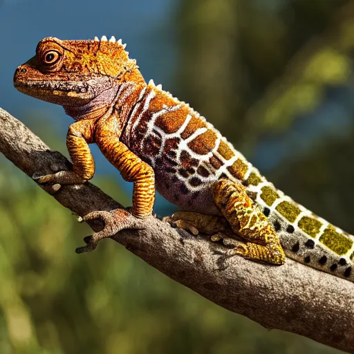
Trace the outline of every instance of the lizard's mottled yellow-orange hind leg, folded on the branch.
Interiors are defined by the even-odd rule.
[[[265,263],[285,263],[277,233],[241,183],[222,178],[216,182],[213,197],[232,230],[248,241],[236,247],[235,254]]]

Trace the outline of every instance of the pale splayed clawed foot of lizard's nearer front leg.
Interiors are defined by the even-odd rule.
[[[111,212],[91,212],[84,217],[80,216],[78,221],[82,223],[83,221],[93,221],[97,218],[104,221],[103,230],[95,232],[91,236],[86,236],[84,238],[86,246],[77,248],[75,250],[76,253],[84,253],[95,250],[98,241],[111,237],[121,230],[141,228],[141,225],[138,224],[141,223],[142,219],[135,218],[124,209],[115,209]]]

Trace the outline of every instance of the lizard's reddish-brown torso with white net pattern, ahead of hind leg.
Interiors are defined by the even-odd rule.
[[[168,201],[189,211],[221,214],[212,184],[221,176],[236,177],[230,174],[232,165],[245,159],[205,118],[151,82],[123,135],[122,142],[153,167],[156,188]]]

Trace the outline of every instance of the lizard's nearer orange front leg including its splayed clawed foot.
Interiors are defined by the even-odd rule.
[[[151,216],[153,202],[155,200],[155,175],[151,166],[147,165],[131,152],[126,145],[120,142],[118,133],[110,128],[109,122],[102,124],[97,129],[96,142],[104,156],[119,171],[124,180],[133,182],[133,207],[131,214],[136,218],[147,218]],[[133,218],[124,209],[115,209],[111,212],[92,212],[82,221],[102,218],[104,229],[92,236],[85,237],[86,246],[77,248],[77,253],[88,252],[96,248],[97,242],[106,237],[111,237],[123,229],[137,228],[141,222]]]

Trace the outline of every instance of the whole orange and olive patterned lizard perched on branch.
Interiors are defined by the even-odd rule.
[[[161,85],[145,82],[125,48],[115,37],[47,37],[14,75],[19,91],[62,105],[75,121],[66,136],[73,169],[40,176],[38,183],[80,185],[93,178],[93,143],[133,182],[131,208],[81,218],[101,218],[105,225],[77,252],[127,228],[129,212],[151,217],[156,188],[182,209],[170,223],[204,230],[212,241],[241,239],[232,254],[272,265],[287,256],[354,281],[354,236],[284,195],[203,116]]]

